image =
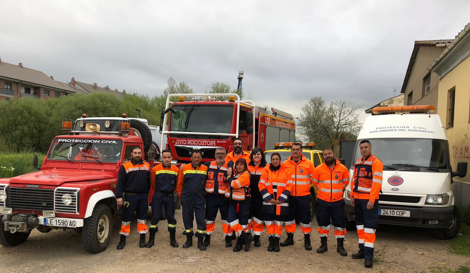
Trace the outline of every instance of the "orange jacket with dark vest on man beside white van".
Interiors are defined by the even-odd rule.
[[[375,202],[382,189],[382,161],[370,154],[367,158],[359,158],[354,163],[354,174],[351,180],[352,197],[368,199]]]

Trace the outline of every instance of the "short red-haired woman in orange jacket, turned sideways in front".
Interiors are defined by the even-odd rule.
[[[250,172],[246,160],[237,159],[235,162],[236,172],[227,179],[230,187],[227,188],[225,196],[229,199],[227,221],[233,231],[238,235],[234,252],[242,250],[248,251],[253,241],[253,235],[248,231],[248,217],[250,214]]]

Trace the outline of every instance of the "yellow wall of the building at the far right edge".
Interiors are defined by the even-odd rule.
[[[454,126],[447,127],[447,98],[448,91],[455,86]],[[470,165],[470,57],[458,64],[439,82],[438,114],[446,127],[449,141],[450,162],[452,170],[457,169],[457,163],[464,161]],[[461,181],[470,182],[470,168],[464,178],[455,177]]]

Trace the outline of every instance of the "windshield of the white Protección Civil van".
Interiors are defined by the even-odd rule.
[[[447,169],[446,140],[438,139],[369,139],[372,154],[378,157],[384,165],[412,164],[436,169]],[[360,140],[356,141],[354,160],[361,157]],[[352,162],[354,164],[354,161]],[[406,166],[393,165],[394,168],[405,171]],[[351,168],[354,168],[352,165]],[[426,171],[424,169],[422,172]]]

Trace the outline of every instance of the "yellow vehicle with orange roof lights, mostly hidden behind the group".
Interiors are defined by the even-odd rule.
[[[273,153],[279,153],[281,155],[281,162],[284,162],[289,156],[291,156],[291,147],[294,142],[276,142],[274,145],[274,150],[267,150],[265,152],[266,161],[269,163],[271,161],[271,155]],[[302,155],[304,155],[308,160],[312,161],[313,165],[317,167],[323,163],[323,151],[315,150],[315,142],[302,142]],[[310,196],[310,211],[312,213],[312,219],[314,218],[315,211],[315,200],[316,200],[316,190],[315,196]]]

